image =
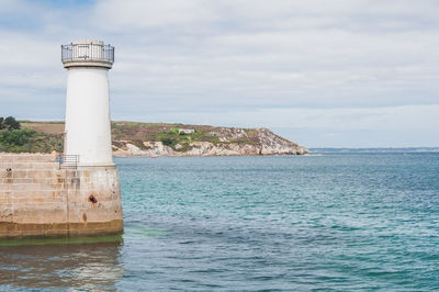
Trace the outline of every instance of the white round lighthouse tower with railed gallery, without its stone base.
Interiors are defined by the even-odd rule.
[[[80,167],[113,166],[111,146],[109,69],[114,47],[81,40],[61,46],[67,69],[64,154]]]

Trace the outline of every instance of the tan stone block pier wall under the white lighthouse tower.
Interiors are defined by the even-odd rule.
[[[122,229],[115,167],[60,169],[55,155],[0,154],[0,237]]]

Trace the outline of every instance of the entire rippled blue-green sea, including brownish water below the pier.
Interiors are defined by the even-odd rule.
[[[439,154],[119,158],[124,233],[0,242],[1,291],[439,290]]]

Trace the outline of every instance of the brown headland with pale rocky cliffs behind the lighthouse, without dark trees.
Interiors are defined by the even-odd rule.
[[[63,122],[22,122],[34,131],[36,151],[63,149]],[[217,127],[166,123],[112,122],[113,154],[130,156],[240,156],[240,155],[306,155],[309,150],[268,128]],[[41,136],[41,137],[40,137]],[[54,146],[55,145],[55,146]],[[30,148],[30,147],[27,147]],[[27,149],[26,148],[26,149]],[[30,148],[34,151],[33,148]],[[41,150],[43,149],[43,150]],[[1,150],[1,149],[0,149]]]

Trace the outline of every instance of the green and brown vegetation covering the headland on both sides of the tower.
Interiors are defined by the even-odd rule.
[[[13,117],[1,119],[7,121],[0,126],[0,151],[12,153],[52,153],[63,150],[64,122],[32,122],[15,121]],[[258,144],[252,138],[255,130],[245,128],[249,138],[230,138],[219,142],[213,135],[221,128],[209,125],[185,125],[166,123],[136,123],[136,122],[112,122],[113,145],[123,147],[128,142],[143,150],[149,149],[144,142],[162,142],[177,151],[191,149],[192,142],[210,142],[215,145],[222,143]],[[116,149],[116,148],[114,148]]]

